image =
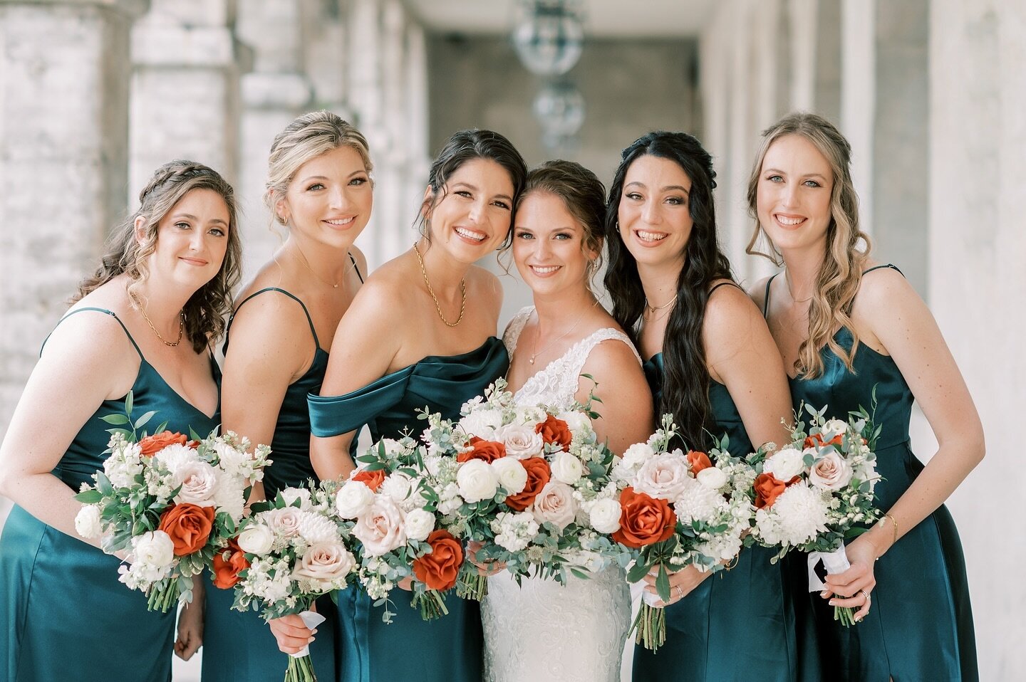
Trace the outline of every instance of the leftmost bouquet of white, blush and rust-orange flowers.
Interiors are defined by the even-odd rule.
[[[103,471],[83,484],[75,529],[100,537],[108,554],[128,551],[119,580],[147,594],[150,610],[166,612],[192,601],[192,578],[211,565],[236,533],[250,482],[264,477],[271,450],[234,433],[201,438],[144,431],[155,412],[132,419],[132,394],[124,414],[102,417],[115,428]]]

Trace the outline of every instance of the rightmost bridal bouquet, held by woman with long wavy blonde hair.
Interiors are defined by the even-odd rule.
[[[770,456],[749,456],[758,474],[751,538],[780,548],[774,561],[791,549],[810,553],[808,590],[816,592],[825,587],[824,574],[817,573],[820,562],[826,573],[846,570],[844,540],[864,532],[878,516],[873,507],[879,479],[873,444],[879,429],[864,409],[841,422],[825,418],[826,407],[803,407],[811,416],[807,433],[796,417],[788,446]],[[854,613],[849,606],[834,607],[834,619],[845,627],[855,624]]]

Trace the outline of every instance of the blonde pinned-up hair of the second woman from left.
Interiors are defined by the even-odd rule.
[[[304,114],[275,135],[267,162],[267,192],[264,194],[264,203],[271,209],[272,219],[285,225],[275,206],[284,198],[288,184],[303,164],[340,147],[355,150],[363,161],[364,170],[367,173],[373,170],[366,137],[329,111]]]

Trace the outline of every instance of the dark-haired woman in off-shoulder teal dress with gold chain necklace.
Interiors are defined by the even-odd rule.
[[[458,132],[431,166],[413,247],[367,279],[334,334],[320,396],[310,397],[310,456],[322,479],[353,471],[356,430],[373,438],[420,434],[416,410],[445,417],[506,372],[496,338],[502,287],[474,266],[508,242],[526,168],[502,135]],[[348,593],[348,594],[347,594]],[[426,623],[402,606],[392,625],[355,590],[339,603],[345,682],[479,682],[478,605],[455,595],[448,615]]]

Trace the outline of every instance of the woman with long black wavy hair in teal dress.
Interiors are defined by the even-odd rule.
[[[719,250],[712,159],[698,139],[654,132],[623,153],[609,189],[605,286],[614,317],[635,334],[657,414],[671,412],[683,444],[729,438],[780,442],[790,400],[783,364],[759,315]],[[670,576],[667,642],[634,649],[634,679],[795,680],[794,618],[772,552],[743,550],[729,571]],[[649,576],[646,590],[655,594]]]

